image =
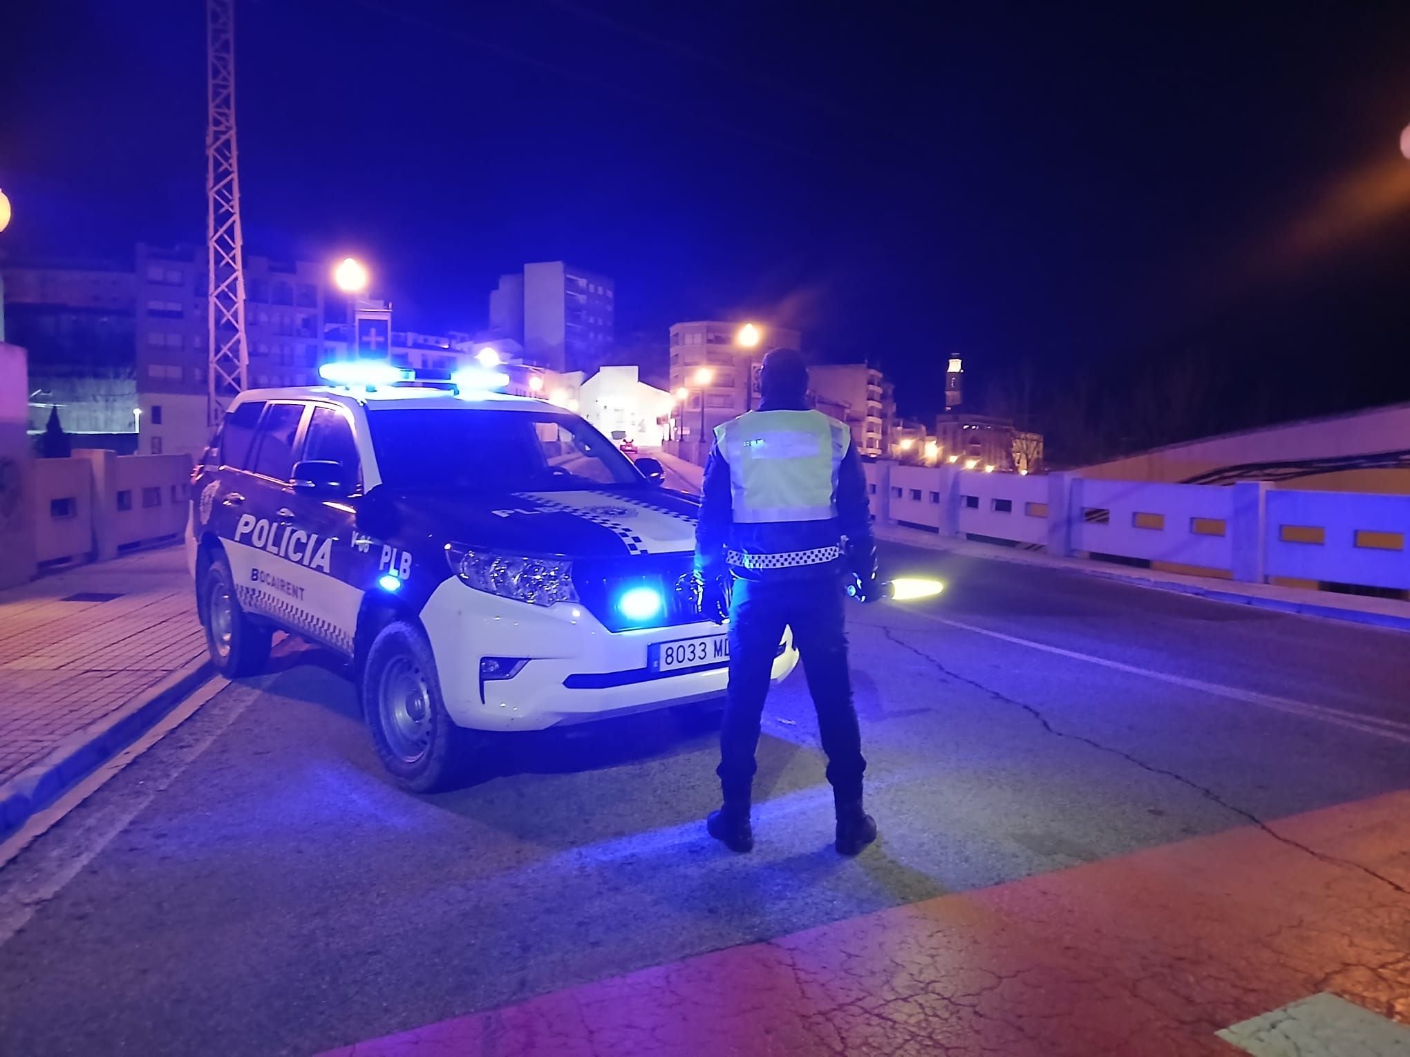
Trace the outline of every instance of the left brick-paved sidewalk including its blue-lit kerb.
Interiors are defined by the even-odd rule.
[[[0,592],[0,833],[151,726],[204,660],[180,547]]]

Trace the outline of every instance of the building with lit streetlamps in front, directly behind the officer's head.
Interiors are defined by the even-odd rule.
[[[757,364],[770,348],[799,348],[797,330],[763,327],[757,345],[737,344],[743,323],[692,320],[671,327],[671,392],[688,390],[680,407],[682,440],[708,440],[723,421],[759,406]],[[702,382],[702,372],[708,381]],[[705,404],[701,433],[701,402]]]

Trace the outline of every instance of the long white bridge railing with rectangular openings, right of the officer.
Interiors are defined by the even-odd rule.
[[[1410,591],[1410,496],[867,465],[880,521],[1246,582]]]

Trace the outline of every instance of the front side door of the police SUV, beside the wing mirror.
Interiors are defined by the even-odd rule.
[[[316,492],[295,481],[289,489],[286,576],[300,589],[299,630],[348,655],[357,633],[362,592],[371,585],[376,555],[358,550],[352,531],[361,495],[361,464],[351,413],[333,403],[313,403],[305,423],[298,462],[337,462],[343,468],[338,493]]]

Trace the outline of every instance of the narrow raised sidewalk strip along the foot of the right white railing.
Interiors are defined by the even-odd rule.
[[[1028,551],[1018,547],[1004,547],[974,540],[953,540],[921,528],[877,524],[878,540],[904,543],[932,551],[948,551],[970,558],[988,558],[1018,565],[1041,565],[1049,569],[1067,569],[1086,576],[1103,576],[1138,588],[1175,591],[1182,595],[1196,595],[1215,602],[1232,602],[1259,609],[1276,609],[1283,613],[1300,613],[1330,620],[1349,620],[1358,624],[1387,627],[1396,631],[1410,631],[1410,602],[1371,598],[1365,595],[1340,595],[1331,591],[1310,591],[1307,588],[1283,588],[1275,583],[1239,583],[1213,576],[1187,576],[1179,572],[1142,569],[1115,562],[1091,561],[1089,558],[1058,558],[1043,551]]]

